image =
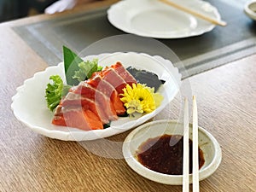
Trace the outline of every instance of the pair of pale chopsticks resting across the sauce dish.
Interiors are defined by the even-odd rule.
[[[198,166],[198,117],[195,96],[193,96],[193,192],[199,192]],[[189,102],[184,101],[183,117],[183,192],[189,192]]]

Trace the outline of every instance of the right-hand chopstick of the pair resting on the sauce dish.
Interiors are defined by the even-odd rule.
[[[193,192],[199,192],[198,166],[198,115],[195,96],[193,96]]]

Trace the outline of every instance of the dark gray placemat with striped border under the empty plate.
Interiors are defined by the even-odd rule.
[[[183,78],[256,53],[256,23],[244,15],[242,8],[245,1],[208,1],[218,8],[228,26],[216,26],[211,32],[198,37],[157,39],[171,48],[183,61],[185,68],[180,68]],[[107,9],[66,15],[55,20],[16,26],[14,29],[49,66],[52,66],[62,61],[63,44],[79,53],[102,38],[125,34],[108,22]],[[115,51],[117,50],[126,51]],[[111,48],[107,52],[112,52]],[[171,59],[168,53],[158,53],[157,50],[149,54]]]

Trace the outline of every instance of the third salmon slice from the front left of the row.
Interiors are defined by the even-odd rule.
[[[105,96],[102,91],[96,90],[86,82],[81,82],[76,89],[73,89],[73,92],[96,102],[104,113],[106,113],[109,120],[118,119],[117,113],[113,108],[113,103],[110,102],[110,98]]]

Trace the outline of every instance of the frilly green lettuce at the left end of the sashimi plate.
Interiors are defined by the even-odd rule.
[[[49,77],[51,82],[47,84],[45,90],[45,98],[47,107],[53,111],[61,102],[62,96],[66,96],[70,85],[64,85],[59,75],[52,75]]]

